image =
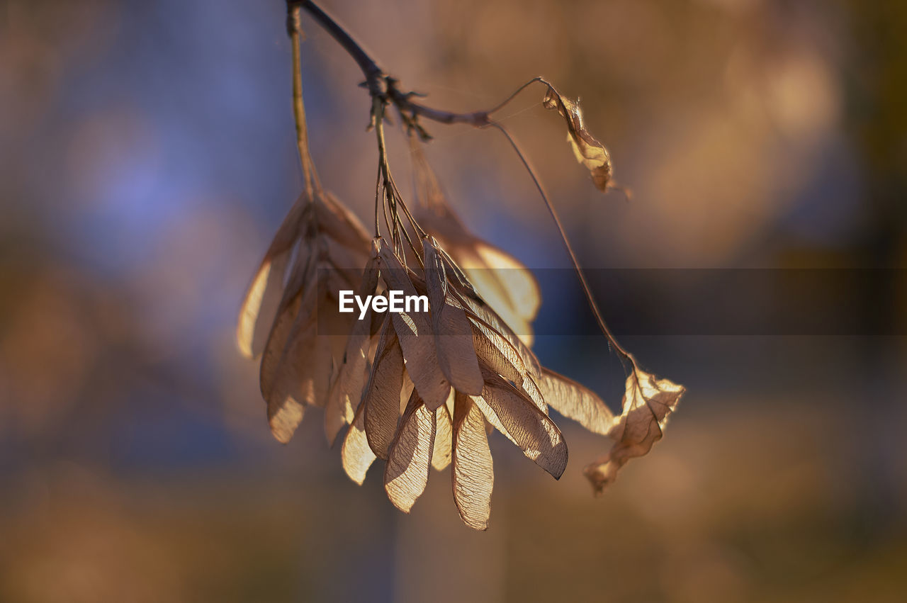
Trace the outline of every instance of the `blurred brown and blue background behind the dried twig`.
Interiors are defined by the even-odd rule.
[[[907,272],[875,269],[907,265],[907,4],[324,5],[436,107],[488,108],[539,74],[582,98],[630,202],[590,184],[540,89],[500,117],[584,266],[856,268],[848,303],[813,301],[858,327],[630,333],[688,394],[604,496],[581,469],[608,443],[561,421],[559,482],[491,438],[487,532],[460,522],[449,470],[407,517],[378,470],[346,479],[317,411],[273,441],[258,367],[233,343],[302,188],[283,2],[5,0],[0,600],[902,600]],[[361,73],[303,25],[314,159],[367,216]],[[568,266],[500,135],[425,125],[470,228],[530,267]],[[390,144],[406,182],[405,141]],[[540,279],[541,362],[617,409],[619,363],[579,287]],[[683,320],[670,297],[644,301]]]

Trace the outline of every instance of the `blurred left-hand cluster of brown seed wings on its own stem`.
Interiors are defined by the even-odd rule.
[[[333,196],[303,193],[243,300],[237,343],[245,355],[262,355],[261,394],[271,431],[282,443],[307,405],[327,404],[352,327],[352,317],[339,313],[336,292],[358,281],[368,241],[356,217]]]

